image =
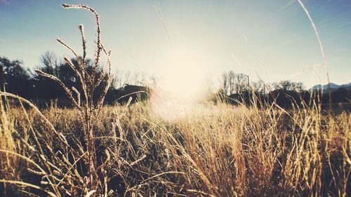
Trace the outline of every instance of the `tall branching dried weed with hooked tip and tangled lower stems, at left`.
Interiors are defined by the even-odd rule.
[[[36,161],[27,156],[21,156],[19,154],[15,154],[14,152],[1,150],[6,152],[6,154],[13,154],[13,156],[18,156],[19,158],[32,163],[34,168],[30,168],[29,171],[36,172],[37,175],[42,175],[41,183],[45,183],[46,186],[43,188],[26,182],[8,181],[4,179],[0,180],[0,182],[29,186],[34,189],[45,191],[49,196],[80,196],[84,193],[86,193],[86,196],[91,196],[94,195],[95,191],[103,191],[103,193],[107,194],[108,180],[107,177],[105,177],[106,170],[104,169],[105,165],[110,165],[110,163],[108,160],[105,163],[98,163],[97,161],[97,150],[95,147],[95,134],[93,128],[98,120],[105,95],[113,78],[111,74],[111,54],[110,51],[107,51],[102,44],[99,15],[93,8],[84,5],[69,4],[62,4],[62,7],[67,9],[86,9],[91,11],[91,13],[93,13],[95,16],[96,48],[94,65],[93,67],[88,67],[87,65],[84,26],[79,25],[81,39],[83,42],[83,57],[79,56],[78,53],[64,41],[60,39],[57,39],[57,41],[62,44],[62,46],[65,46],[65,48],[70,50],[73,53],[75,60],[77,60],[78,64],[75,65],[71,60],[69,60],[68,57],[65,57],[65,61],[77,76],[77,79],[80,82],[80,87],[68,87],[60,79],[51,74],[47,74],[40,70],[36,70],[36,72],[39,74],[39,76],[43,76],[58,83],[58,85],[65,90],[65,93],[72,102],[72,105],[79,110],[84,144],[80,144],[80,142],[77,141],[78,143],[74,144],[74,147],[72,147],[72,145],[68,144],[65,136],[55,129],[53,124],[48,121],[46,116],[44,116],[41,111],[34,106],[34,104],[23,99],[22,97],[18,97],[17,95],[13,95],[11,93],[1,93],[1,95],[13,97],[20,100],[20,102],[25,102],[25,104],[28,104],[29,107],[36,112],[36,114],[39,114],[50,130],[45,129],[46,133],[33,133],[34,144],[37,148],[32,148],[31,154],[33,154],[34,158],[36,158]],[[100,66],[101,55],[105,55],[107,63],[106,67],[101,73],[99,73],[98,67]],[[93,99],[98,88],[102,89],[102,93],[98,95],[98,100],[94,101]],[[2,111],[2,114],[5,113],[5,111]],[[52,137],[52,133],[60,140],[55,144],[48,144],[46,142],[51,141],[50,137]],[[77,139],[77,137],[75,138]],[[27,140],[22,141],[27,142]],[[107,150],[106,154],[109,154]],[[82,174],[81,170],[77,170],[77,163],[81,165],[81,168],[85,168],[88,171]]]

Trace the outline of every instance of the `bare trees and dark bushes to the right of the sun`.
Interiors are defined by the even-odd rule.
[[[220,79],[221,88],[218,91],[220,100],[231,104],[270,105],[273,102],[280,107],[302,107],[322,104],[322,107],[344,107],[350,110],[351,90],[338,88],[336,90],[306,90],[301,82],[284,80],[272,84],[263,81],[249,83],[249,76],[233,71],[225,72]],[[255,101],[255,103],[253,103]]]

